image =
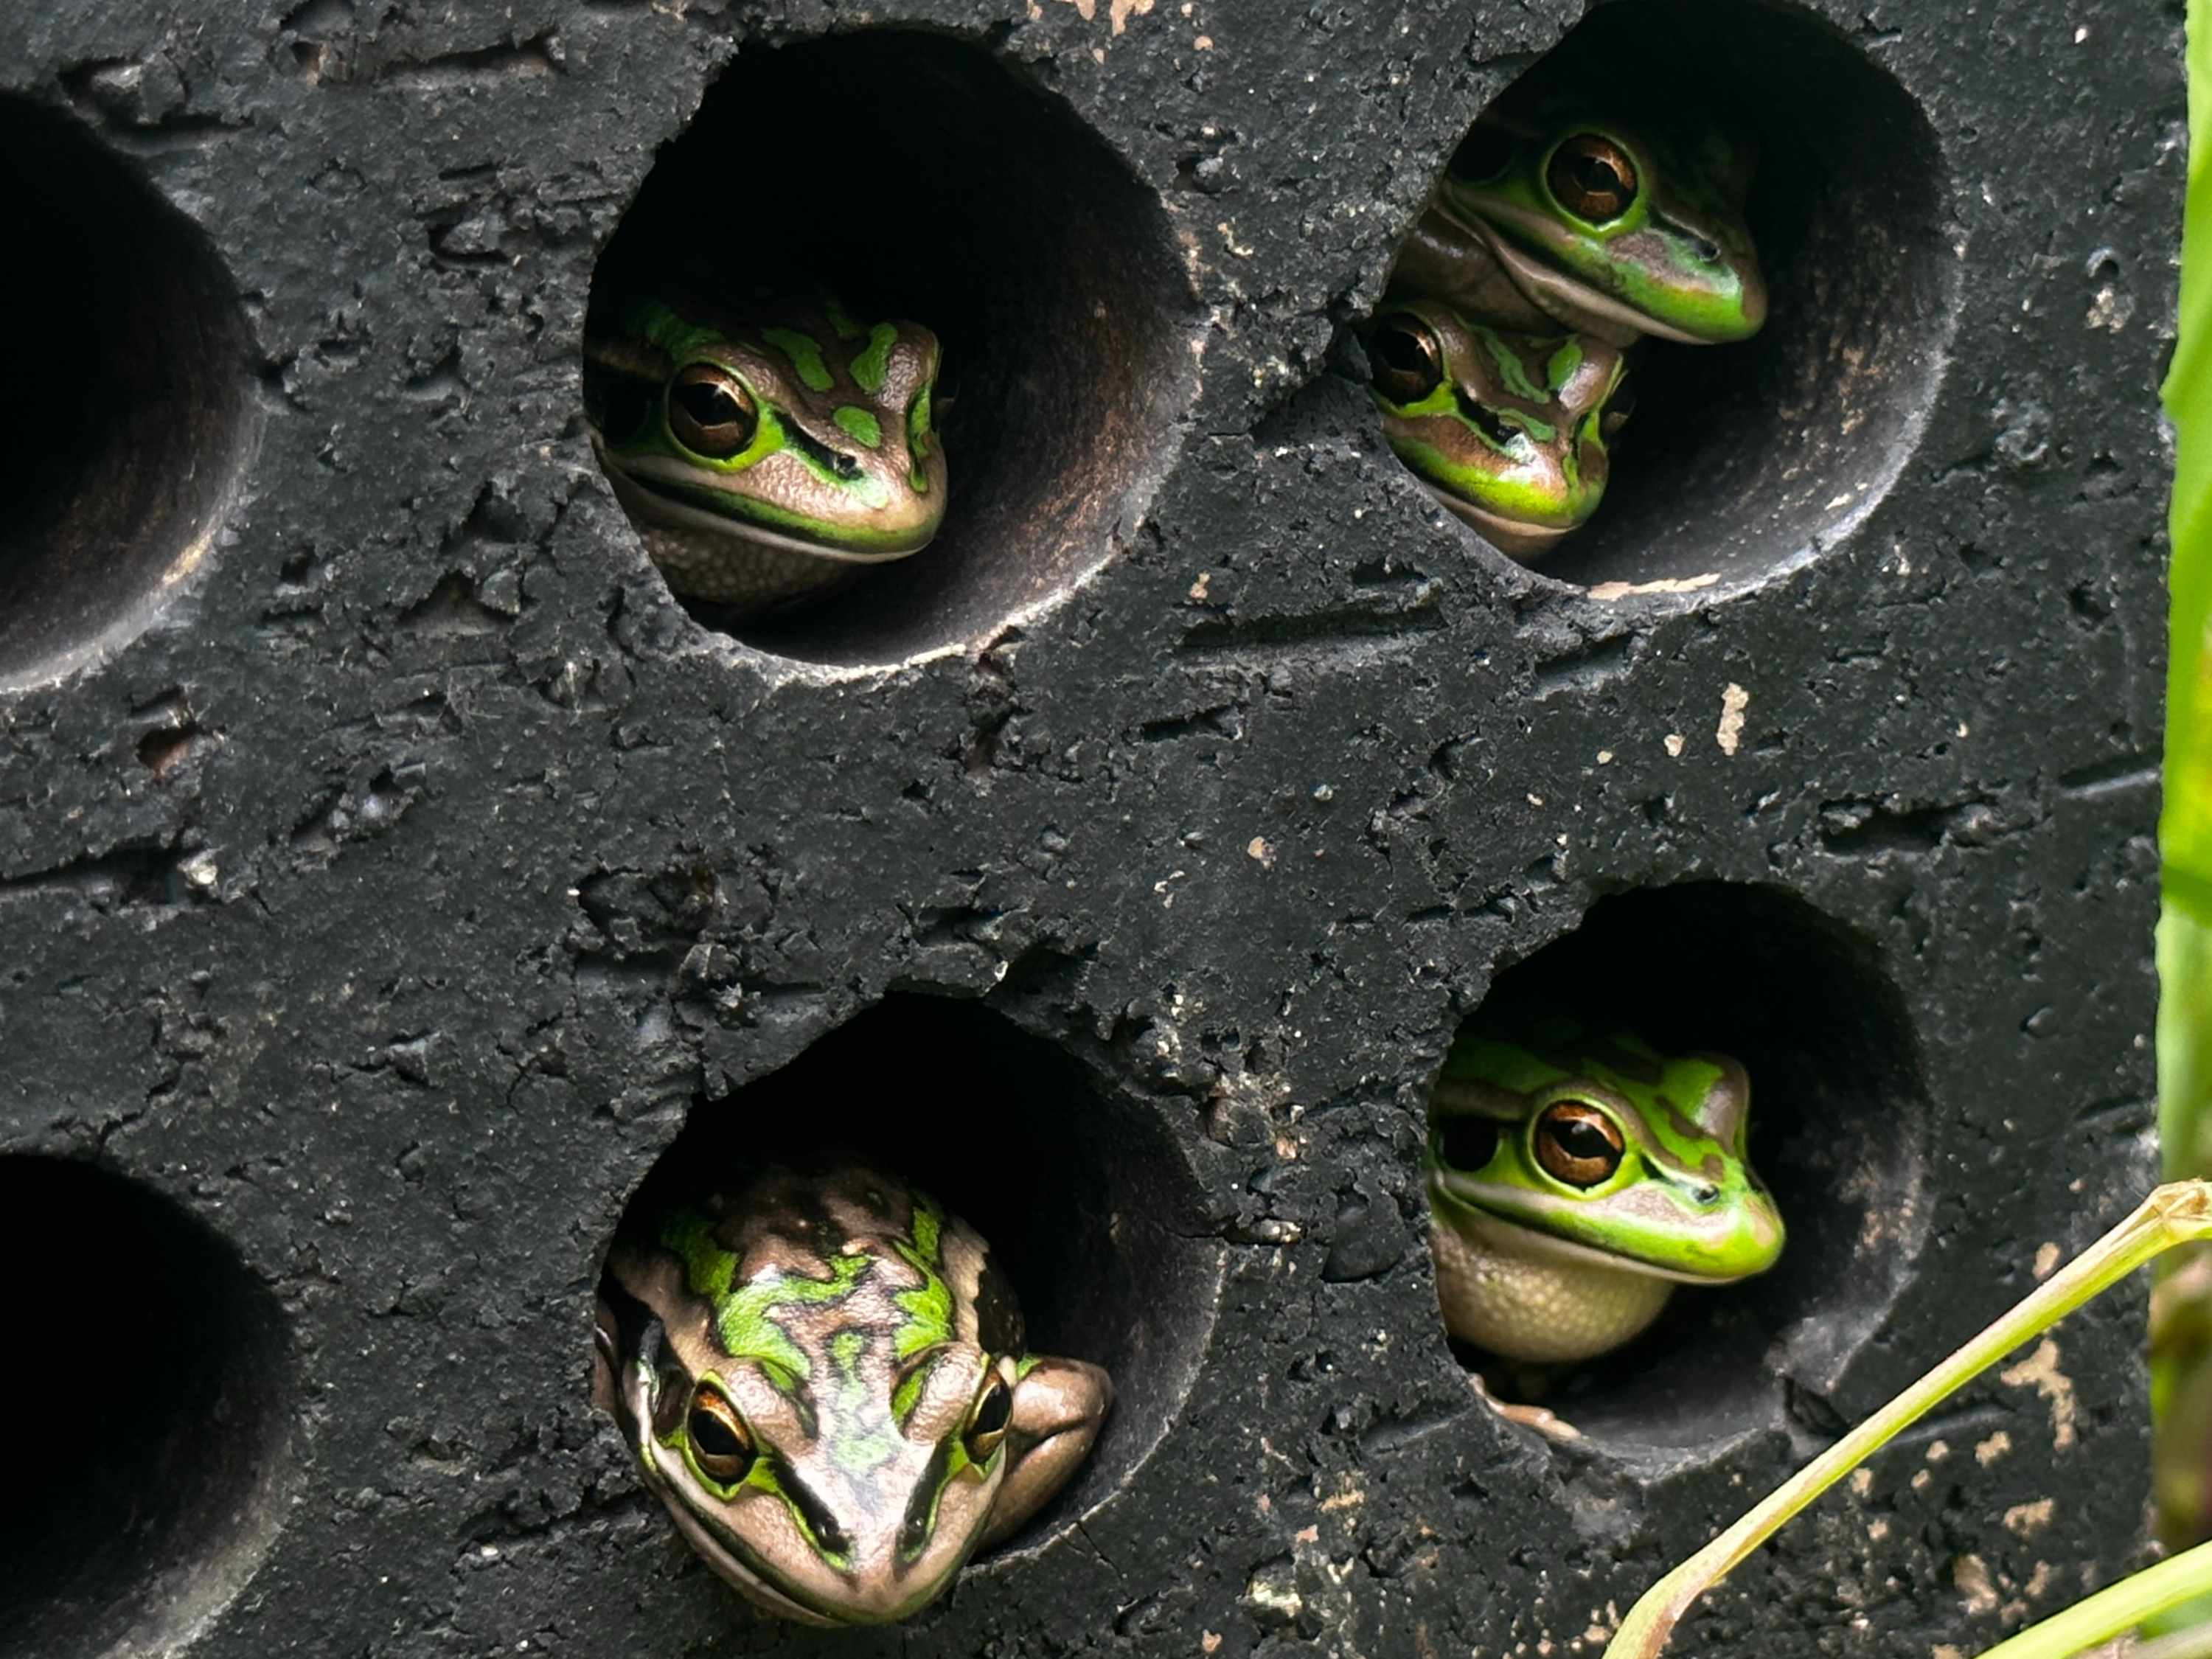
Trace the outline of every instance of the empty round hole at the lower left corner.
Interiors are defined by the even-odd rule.
[[[181,1648],[283,1520],[283,1312],[217,1234],[86,1164],[0,1157],[0,1655]]]

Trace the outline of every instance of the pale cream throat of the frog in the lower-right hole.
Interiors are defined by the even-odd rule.
[[[1429,1225],[1444,1327],[1509,1360],[1604,1354],[1650,1325],[1674,1290],[1652,1274],[1526,1254],[1528,1234],[1471,1212],[1460,1221]]]

